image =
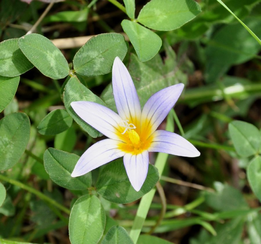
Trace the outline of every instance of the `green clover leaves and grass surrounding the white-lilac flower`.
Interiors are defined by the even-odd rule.
[[[2,0],[0,243],[261,243],[260,4]],[[122,159],[70,176],[102,136],[70,103],[116,111],[116,56],[142,107],[185,84],[160,128],[201,152],[151,154],[139,192]]]

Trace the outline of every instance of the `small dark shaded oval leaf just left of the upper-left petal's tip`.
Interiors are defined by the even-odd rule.
[[[65,109],[56,109],[42,119],[37,129],[42,135],[56,135],[70,128],[72,123],[73,118]]]

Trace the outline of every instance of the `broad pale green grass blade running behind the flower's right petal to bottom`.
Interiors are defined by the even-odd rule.
[[[169,119],[169,117],[172,117],[171,113],[168,114],[166,130],[173,132],[173,120]],[[160,176],[162,175],[167,158],[168,158],[167,153],[158,153],[158,156],[157,156],[157,159],[155,162],[155,167],[158,169]],[[147,194],[145,194],[142,197],[142,199],[139,203],[139,207],[137,209],[137,214],[133,221],[133,225],[132,225],[131,232],[130,232],[130,237],[132,238],[134,244],[137,243],[137,240],[139,238],[139,234],[141,232],[142,226],[143,226],[146,216],[148,214],[148,210],[150,209],[151,202],[152,202],[153,196],[155,194],[155,191],[156,191],[156,189],[153,188],[150,192],[148,192]],[[153,223],[154,223],[153,225],[156,224],[156,222],[153,222]]]

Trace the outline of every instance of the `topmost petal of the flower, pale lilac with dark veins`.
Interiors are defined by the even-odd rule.
[[[139,98],[127,68],[118,57],[113,63],[112,84],[119,116],[137,124],[136,119],[141,115]]]

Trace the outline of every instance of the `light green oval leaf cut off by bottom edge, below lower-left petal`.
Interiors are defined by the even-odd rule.
[[[72,244],[97,243],[105,227],[105,211],[95,196],[84,195],[73,205],[69,220]]]

